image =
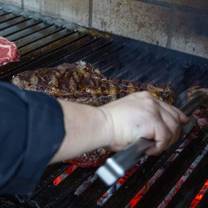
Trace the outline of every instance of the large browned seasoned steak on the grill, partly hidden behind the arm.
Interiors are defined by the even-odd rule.
[[[168,87],[110,80],[99,70],[82,62],[26,71],[14,76],[12,82],[26,90],[45,92],[56,98],[93,106],[100,106],[142,90],[148,90],[153,96],[167,103],[174,102],[174,93]],[[108,149],[99,148],[70,162],[80,167],[96,167],[110,154]]]

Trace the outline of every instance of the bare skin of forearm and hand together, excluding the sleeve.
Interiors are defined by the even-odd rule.
[[[154,139],[156,145],[148,153],[158,154],[175,142],[180,125],[187,121],[177,109],[155,100],[147,92],[129,95],[100,108],[59,102],[66,135],[52,162],[99,147],[121,150],[141,137]]]

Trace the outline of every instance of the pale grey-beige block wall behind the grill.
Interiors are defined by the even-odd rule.
[[[0,0],[208,58],[208,0]]]

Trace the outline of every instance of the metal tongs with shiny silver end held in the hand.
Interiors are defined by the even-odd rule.
[[[196,109],[206,103],[208,104],[208,96],[203,92],[196,92],[192,99],[189,102],[186,101],[180,109],[190,117]],[[190,119],[183,127],[182,135],[189,134],[195,125],[196,120]],[[106,185],[113,185],[120,177],[125,175],[126,171],[136,165],[140,158],[145,155],[146,150],[154,144],[155,142],[152,140],[140,138],[135,144],[108,158],[105,164],[96,171],[96,174]]]

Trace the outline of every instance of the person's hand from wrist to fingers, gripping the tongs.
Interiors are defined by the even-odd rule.
[[[155,99],[148,92],[131,94],[100,109],[108,122],[109,143],[113,150],[121,150],[145,137],[156,142],[147,151],[149,155],[159,154],[175,143],[182,124],[188,121],[180,110]]]

